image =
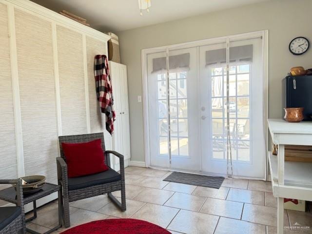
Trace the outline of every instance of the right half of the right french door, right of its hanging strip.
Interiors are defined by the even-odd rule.
[[[230,100],[234,175],[264,178],[264,78],[262,39],[230,41]]]

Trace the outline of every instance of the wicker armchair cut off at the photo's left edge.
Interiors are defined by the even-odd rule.
[[[21,179],[0,179],[0,184],[16,184],[18,201],[17,206],[0,207],[0,234],[23,234],[26,227]]]

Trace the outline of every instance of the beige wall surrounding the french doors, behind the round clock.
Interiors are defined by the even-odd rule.
[[[137,102],[142,95],[141,49],[268,29],[269,117],[280,118],[282,79],[293,66],[312,68],[312,49],[302,56],[288,50],[297,36],[312,42],[311,9],[312,0],[272,0],[119,32],[121,62],[128,66],[131,159],[144,161],[143,105]]]

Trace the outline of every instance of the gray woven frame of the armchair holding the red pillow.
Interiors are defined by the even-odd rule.
[[[68,174],[66,158],[62,149],[62,142],[68,143],[81,143],[88,142],[96,139],[101,139],[101,146],[105,157],[105,162],[108,167],[111,168],[110,154],[113,154],[119,158],[120,164],[120,176],[121,180],[100,184],[96,186],[90,186],[83,189],[69,190],[68,189]],[[74,136],[60,136],[59,137],[59,150],[60,157],[57,158],[58,167],[58,182],[62,188],[63,202],[62,202],[62,215],[65,228],[70,227],[70,214],[69,214],[69,202],[81,200],[88,197],[107,194],[108,197],[121,209],[126,211],[126,193],[125,193],[125,175],[124,175],[124,157],[115,151],[105,151],[104,135],[103,133],[74,135]],[[114,191],[121,191],[121,203],[111,194]]]

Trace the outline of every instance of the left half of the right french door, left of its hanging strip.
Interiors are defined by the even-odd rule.
[[[226,173],[226,43],[201,46],[200,125],[202,171]]]

